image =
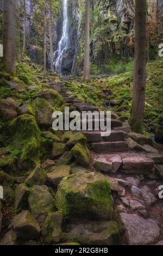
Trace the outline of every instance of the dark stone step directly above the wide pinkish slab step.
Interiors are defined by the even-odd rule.
[[[96,153],[110,153],[128,151],[127,143],[124,141],[118,142],[96,142],[91,143],[92,150]]]

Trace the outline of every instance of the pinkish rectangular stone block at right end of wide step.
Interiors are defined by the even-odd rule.
[[[154,161],[143,156],[129,156],[123,159],[122,172],[148,174],[154,167]]]

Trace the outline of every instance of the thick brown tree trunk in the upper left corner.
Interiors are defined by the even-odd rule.
[[[11,74],[16,74],[16,1],[3,1],[3,62]]]

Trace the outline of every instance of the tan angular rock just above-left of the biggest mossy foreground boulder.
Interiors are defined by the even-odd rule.
[[[61,165],[54,167],[51,173],[47,174],[47,178],[50,184],[58,186],[59,182],[66,176],[70,175],[71,167],[67,165]]]

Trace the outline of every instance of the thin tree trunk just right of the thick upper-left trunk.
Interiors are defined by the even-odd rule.
[[[21,62],[20,46],[20,0],[16,0],[16,61]]]

